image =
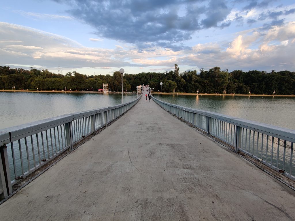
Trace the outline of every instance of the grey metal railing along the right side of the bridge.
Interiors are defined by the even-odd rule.
[[[295,180],[295,130],[153,100],[208,136]]]

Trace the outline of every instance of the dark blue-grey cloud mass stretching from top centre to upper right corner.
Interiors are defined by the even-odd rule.
[[[274,8],[275,0],[55,0],[67,5],[66,11],[94,29],[98,38],[135,45],[137,49],[164,47],[188,50],[185,42],[202,36],[201,31],[226,29],[233,23],[242,26],[279,25],[283,13],[293,13],[283,6]],[[237,9],[239,8],[239,9]],[[275,20],[275,21],[274,21]],[[283,24],[281,22],[281,24]],[[262,31],[264,30],[262,29]]]

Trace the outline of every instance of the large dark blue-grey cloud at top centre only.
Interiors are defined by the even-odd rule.
[[[231,9],[227,1],[214,0],[59,0],[71,8],[71,17],[89,24],[94,33],[145,47],[170,47],[190,40],[196,31],[210,27],[225,28]],[[147,44],[148,43],[148,44]],[[142,47],[144,45],[144,47]],[[165,45],[165,46],[164,46]]]

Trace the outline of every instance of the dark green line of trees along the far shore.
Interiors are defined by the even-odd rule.
[[[138,74],[124,74],[123,88],[127,91],[136,91],[136,86],[149,84],[154,91],[160,90],[163,82],[163,92],[186,93],[223,93],[227,94],[295,94],[295,72],[274,71],[265,72],[251,70],[244,72],[234,70],[228,72],[220,67],[209,70],[200,69],[179,72],[177,64],[175,69],[165,72],[142,72]],[[59,71],[58,71],[59,72]],[[22,68],[11,69],[9,66],[0,66],[0,88],[16,90],[87,90],[95,91],[102,88],[103,83],[109,83],[109,90],[121,91],[121,74],[119,71],[113,75],[83,75],[76,71],[65,75],[49,72],[47,69],[31,67],[30,70]]]

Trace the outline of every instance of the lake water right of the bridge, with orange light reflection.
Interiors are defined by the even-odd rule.
[[[160,95],[155,94],[160,99]],[[294,97],[163,95],[168,103],[295,129]]]

